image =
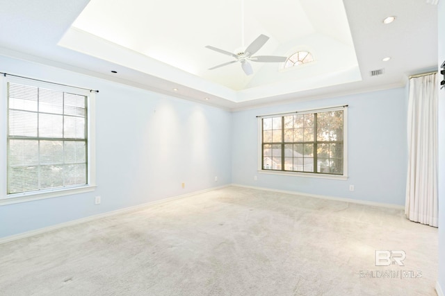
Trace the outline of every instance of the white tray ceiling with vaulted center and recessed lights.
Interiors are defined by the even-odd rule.
[[[0,54],[234,110],[398,87],[437,69],[437,6],[425,0],[244,1],[242,13],[241,0],[0,0]],[[232,58],[204,46],[236,51],[260,34],[270,40],[258,55],[303,49],[315,62],[208,70]]]

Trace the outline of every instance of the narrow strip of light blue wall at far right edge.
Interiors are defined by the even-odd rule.
[[[439,1],[439,66],[445,60],[445,1]],[[443,79],[439,79],[441,81]],[[445,89],[439,89],[439,279],[445,293]]]

